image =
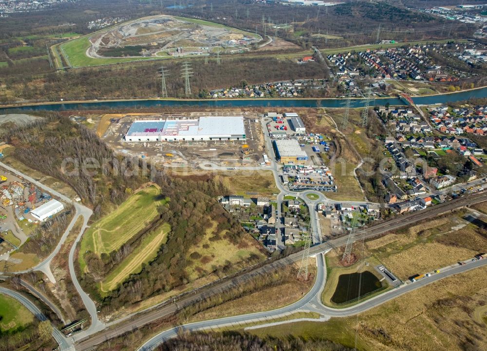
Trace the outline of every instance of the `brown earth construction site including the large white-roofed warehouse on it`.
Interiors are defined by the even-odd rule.
[[[256,113],[112,116],[104,120],[99,135],[123,154],[171,167],[257,166],[264,162],[262,125]]]

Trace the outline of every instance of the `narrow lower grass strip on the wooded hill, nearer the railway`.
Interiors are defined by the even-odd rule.
[[[142,243],[100,283],[101,291],[115,289],[131,274],[139,273],[143,263],[147,264],[155,259],[161,245],[166,244],[170,230],[169,224],[163,224],[147,235]]]

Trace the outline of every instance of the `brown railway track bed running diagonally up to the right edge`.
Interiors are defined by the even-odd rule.
[[[376,224],[373,227],[365,228],[361,230],[359,233],[356,234],[355,241],[374,237],[376,235],[386,233],[390,230],[404,227],[408,224],[412,224],[430,217],[434,217],[449,211],[453,211],[463,206],[473,205],[483,201],[487,201],[486,192],[460,197],[455,200],[451,200],[448,202],[444,202],[442,204],[432,206],[423,211],[417,211],[405,215],[399,215],[398,217],[393,218],[392,220],[385,221],[383,223]],[[347,237],[345,236],[342,238],[330,240],[323,244],[312,246],[310,249],[310,255],[316,255],[330,248],[346,245],[346,242],[347,242]],[[157,319],[170,316],[175,312],[177,312],[179,308],[191,305],[197,301],[201,301],[206,297],[216,295],[220,292],[227,291],[229,288],[238,285],[244,281],[247,281],[252,277],[256,277],[258,275],[265,274],[281,266],[297,262],[301,260],[301,258],[302,258],[302,252],[297,252],[295,254],[289,255],[277,261],[269,261],[269,263],[266,263],[258,268],[242,273],[240,276],[223,279],[222,281],[217,281],[214,284],[209,284],[206,287],[200,288],[194,292],[186,294],[183,298],[176,300],[176,303],[168,302],[152,310],[140,312],[139,314],[136,314],[131,318],[116,324],[116,328],[104,330],[102,332],[93,334],[92,336],[88,336],[84,339],[81,339],[76,344],[76,350],[79,351],[90,350],[94,346],[104,342],[105,340],[135,330]]]

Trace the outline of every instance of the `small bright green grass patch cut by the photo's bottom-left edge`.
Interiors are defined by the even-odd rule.
[[[13,332],[32,323],[34,315],[15,298],[0,294],[0,332]]]

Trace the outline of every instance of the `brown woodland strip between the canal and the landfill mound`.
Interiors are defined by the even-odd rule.
[[[68,70],[64,74],[48,73],[43,79],[36,76],[5,76],[5,94],[0,103],[12,99],[34,101],[91,100],[106,98],[149,98],[160,93],[157,71],[161,63],[118,64],[96,68]],[[170,97],[185,97],[184,80],[180,78],[181,63],[164,62],[169,71],[166,85]],[[257,84],[288,79],[327,77],[326,68],[310,62],[299,65],[296,60],[277,58],[222,57],[221,64],[210,60],[193,60],[194,76],[191,78],[193,97],[209,97],[215,88],[242,88],[242,82]],[[1,76],[1,69],[0,69]]]

